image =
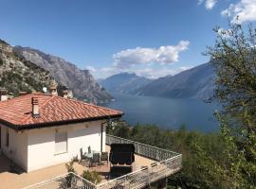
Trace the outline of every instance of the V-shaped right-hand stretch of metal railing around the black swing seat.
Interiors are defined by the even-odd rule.
[[[149,167],[141,168],[115,180],[103,182],[97,185],[99,189],[143,188],[156,180],[170,177],[182,167],[182,155],[176,152],[107,134],[106,145],[111,145],[112,143],[134,144],[138,155],[154,159],[157,163],[153,163]]]

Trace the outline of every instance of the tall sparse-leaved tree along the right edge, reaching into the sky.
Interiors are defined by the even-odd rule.
[[[214,29],[216,42],[207,55],[217,78],[215,99],[224,143],[215,172],[225,174],[229,188],[256,188],[256,29],[239,24]]]

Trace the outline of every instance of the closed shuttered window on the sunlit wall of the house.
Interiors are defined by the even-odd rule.
[[[55,154],[67,152],[66,132],[55,132]]]

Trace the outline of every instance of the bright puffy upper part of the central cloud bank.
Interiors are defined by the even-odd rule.
[[[179,53],[188,49],[190,42],[180,41],[177,45],[160,46],[159,48],[127,49],[113,55],[114,65],[127,69],[138,64],[168,64],[178,61]]]

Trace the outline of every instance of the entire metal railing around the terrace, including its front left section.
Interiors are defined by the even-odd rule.
[[[137,189],[150,186],[151,183],[170,177],[182,167],[182,155],[155,146],[148,146],[135,141],[123,139],[113,135],[106,135],[106,145],[113,143],[134,144],[137,155],[144,156],[156,161],[148,167],[141,168],[135,172],[121,176],[115,180],[109,180],[101,184],[94,184],[84,180],[75,173],[67,173],[63,176],[46,180],[26,189]]]

